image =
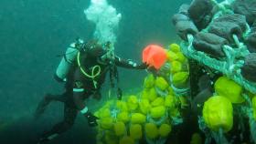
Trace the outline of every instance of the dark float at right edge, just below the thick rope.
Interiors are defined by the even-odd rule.
[[[256,53],[251,53],[245,57],[245,64],[241,68],[241,75],[247,80],[256,82]]]

